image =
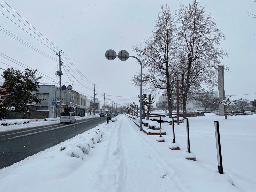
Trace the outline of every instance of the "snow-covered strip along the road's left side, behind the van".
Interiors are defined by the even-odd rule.
[[[99,115],[88,115],[84,117],[79,117],[76,116],[76,120],[82,120],[82,119],[89,119],[89,118],[94,118],[94,117],[99,117]],[[28,122],[29,123],[26,123]],[[25,122],[25,123],[24,123]],[[5,119],[5,120],[0,120],[0,132],[2,131],[11,131],[15,129],[24,129],[24,128],[29,128],[29,127],[38,127],[38,126],[44,126],[44,125],[52,125],[60,123],[60,118],[46,118],[46,121],[44,119]],[[1,124],[7,124],[7,125],[1,125]]]

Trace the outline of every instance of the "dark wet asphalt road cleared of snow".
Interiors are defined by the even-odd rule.
[[[0,169],[70,139],[106,121],[107,117],[96,117],[76,121],[74,124],[54,124],[1,132]]]

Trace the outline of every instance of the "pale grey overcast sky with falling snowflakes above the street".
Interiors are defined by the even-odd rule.
[[[167,4],[175,10],[179,8],[180,3],[186,5],[192,3],[192,0],[4,1],[42,35],[65,52],[61,55],[67,73],[62,69],[64,85],[73,84],[74,90],[92,97],[92,84],[96,84],[96,97],[103,102],[102,95],[106,93],[106,102],[111,99],[111,103],[114,101],[119,104],[118,106],[132,101],[139,103],[137,98],[115,96],[137,97],[140,93],[139,89],[131,85],[130,80],[136,72],[139,72],[140,65],[134,58],[129,58],[127,61],[120,61],[119,59],[108,61],[104,55],[106,50],[114,49],[117,53],[120,50],[127,50],[130,55],[136,56],[131,47],[152,34],[155,25],[154,18],[159,13],[161,5]],[[4,1],[0,0],[0,4],[26,23]],[[205,5],[205,12],[211,13],[217,26],[227,37],[221,42],[221,47],[230,54],[229,58],[223,60],[223,63],[231,68],[229,72],[225,72],[226,95],[233,95],[231,97],[233,99],[240,97],[249,100],[256,99],[256,18],[250,17],[247,13],[249,11],[256,14],[256,3],[250,0],[201,0],[200,5]],[[57,61],[54,52],[58,52],[58,48],[47,44],[2,6],[0,6],[0,29],[8,30],[54,59],[42,56],[1,30],[0,53],[48,75],[48,79],[42,78],[42,82],[45,84],[58,80],[55,75]],[[42,43],[18,27],[13,21]],[[68,58],[81,74],[71,66]],[[25,69],[3,57],[0,57],[0,62],[5,63],[0,63],[0,67],[3,69],[7,69],[9,66],[19,70]],[[1,69],[1,74],[2,71]]]

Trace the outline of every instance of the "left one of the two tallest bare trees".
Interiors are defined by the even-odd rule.
[[[143,74],[144,86],[151,92],[156,89],[166,90],[169,117],[172,111],[171,93],[176,71],[176,66],[172,62],[177,52],[175,18],[176,15],[171,13],[170,7],[162,6],[155,18],[156,25],[152,37],[143,40],[144,47],[141,44],[133,47],[143,67],[148,69],[148,72]],[[132,83],[139,86],[139,75],[132,79]]]

